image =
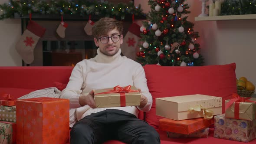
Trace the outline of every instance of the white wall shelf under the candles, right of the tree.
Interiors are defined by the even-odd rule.
[[[252,19],[256,19],[256,14],[195,17],[195,21],[206,21],[206,20],[252,20]]]

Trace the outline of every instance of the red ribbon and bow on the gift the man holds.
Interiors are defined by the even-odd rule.
[[[109,94],[109,93],[119,93],[120,94],[120,106],[125,107],[126,106],[126,100],[125,100],[125,93],[126,92],[138,92],[137,90],[132,90],[131,85],[121,87],[120,85],[115,86],[113,89],[105,89],[108,92],[100,92],[95,95],[99,94]]]

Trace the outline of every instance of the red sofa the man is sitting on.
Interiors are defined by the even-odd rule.
[[[236,65],[208,66],[158,66],[145,65],[148,88],[153,96],[151,111],[144,114],[140,111],[139,118],[151,124],[160,134],[161,144],[241,144],[213,138],[213,128],[210,128],[208,138],[167,138],[165,131],[158,130],[160,116],[155,115],[155,98],[203,94],[223,98],[223,102],[236,92]],[[67,84],[72,67],[0,67],[0,92],[10,93],[15,98],[38,89],[57,87],[56,82]],[[224,112],[224,106],[223,106]],[[256,140],[248,142],[254,144]],[[108,141],[105,144],[123,144],[119,141]]]

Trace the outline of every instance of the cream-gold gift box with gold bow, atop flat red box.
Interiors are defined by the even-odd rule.
[[[156,98],[156,115],[174,120],[209,117],[222,113],[222,98],[210,95],[182,95]]]

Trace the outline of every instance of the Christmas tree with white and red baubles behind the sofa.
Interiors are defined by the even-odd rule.
[[[149,0],[151,11],[141,26],[142,45],[137,52],[141,65],[203,65],[194,23],[187,21],[186,0]]]

